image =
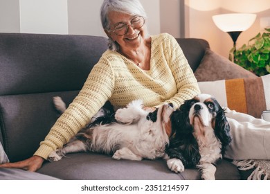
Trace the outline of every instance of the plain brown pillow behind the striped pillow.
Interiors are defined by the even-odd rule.
[[[214,53],[210,48],[206,49],[204,58],[194,74],[198,82],[258,77],[227,58]]]

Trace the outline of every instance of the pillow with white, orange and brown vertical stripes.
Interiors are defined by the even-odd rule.
[[[270,110],[270,74],[257,78],[239,78],[198,82],[201,93],[217,98],[220,105],[260,118]]]

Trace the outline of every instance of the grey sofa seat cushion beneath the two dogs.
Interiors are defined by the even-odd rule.
[[[46,162],[39,173],[59,179],[91,180],[137,180],[137,179],[200,179],[197,169],[173,173],[165,160],[114,160],[110,156],[91,152],[68,154],[60,161]],[[223,160],[217,165],[217,179],[240,179],[240,174],[231,162]]]

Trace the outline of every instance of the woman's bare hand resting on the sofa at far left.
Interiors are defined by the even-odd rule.
[[[23,170],[35,172],[42,167],[43,162],[44,158],[39,156],[33,156],[23,161],[1,164],[0,168],[21,168]]]

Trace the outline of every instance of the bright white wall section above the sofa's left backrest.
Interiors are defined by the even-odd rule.
[[[66,0],[20,0],[21,33],[68,34]]]

